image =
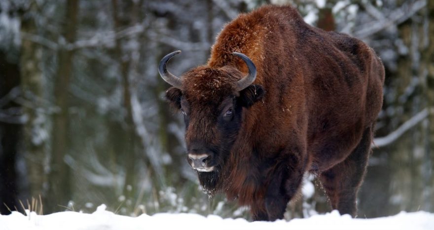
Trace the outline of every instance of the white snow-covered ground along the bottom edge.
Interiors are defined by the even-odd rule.
[[[0,216],[0,230],[433,230],[434,214],[399,213],[374,219],[352,219],[337,211],[307,219],[276,222],[248,222],[244,219],[222,219],[218,216],[161,213],[153,216],[127,217],[106,211],[101,205],[92,214],[59,212],[45,216],[32,212],[25,216],[13,212]]]

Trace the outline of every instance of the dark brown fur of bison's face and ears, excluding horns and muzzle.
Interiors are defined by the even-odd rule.
[[[168,101],[184,115],[187,152],[206,152],[213,156],[208,163],[216,169],[199,173],[201,185],[209,191],[215,191],[220,173],[237,139],[243,108],[251,107],[265,93],[260,85],[250,85],[240,92],[236,91],[234,83],[242,77],[244,74],[232,66],[199,66],[182,76],[182,90],[172,87],[166,93]],[[228,109],[233,113],[230,119],[224,116]]]

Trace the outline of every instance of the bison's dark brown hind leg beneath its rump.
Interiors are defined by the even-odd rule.
[[[354,151],[342,162],[320,175],[323,188],[333,209],[341,215],[357,213],[356,198],[366,171],[373,127],[363,132],[362,140]]]

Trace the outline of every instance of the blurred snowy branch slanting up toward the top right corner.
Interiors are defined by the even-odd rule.
[[[354,36],[361,39],[367,38],[393,24],[402,23],[403,21],[413,16],[416,12],[421,10],[423,7],[425,7],[426,4],[426,0],[417,0],[409,4],[404,4],[400,8],[391,12],[391,16],[389,18],[385,18],[382,21],[375,20],[371,23],[364,24],[361,28],[357,28],[354,32]]]

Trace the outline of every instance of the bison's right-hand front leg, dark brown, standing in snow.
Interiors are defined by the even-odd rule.
[[[265,210],[269,221],[283,219],[289,200],[298,191],[305,168],[303,155],[292,151],[283,154],[284,157],[278,160],[265,195]]]

